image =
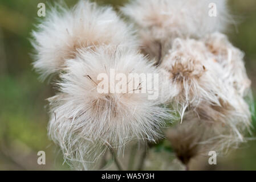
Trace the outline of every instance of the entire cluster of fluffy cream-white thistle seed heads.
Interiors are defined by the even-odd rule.
[[[215,6],[217,16],[210,16]],[[58,93],[48,99],[48,134],[64,159],[76,169],[93,169],[108,147],[120,152],[131,140],[155,142],[166,120],[174,120],[170,109],[182,126],[177,123],[167,137],[181,158],[245,141],[251,81],[243,52],[221,33],[230,19],[226,1],[135,0],[121,10],[135,23],[139,40],[111,7],[82,0],[72,9],[56,4],[32,31],[34,68],[42,79],[59,76]],[[123,93],[116,92],[120,80],[111,82],[111,70],[128,78]],[[130,88],[131,73],[156,74],[159,82],[147,77]],[[97,90],[100,74],[110,81],[107,93]],[[159,97],[149,99],[148,85]]]

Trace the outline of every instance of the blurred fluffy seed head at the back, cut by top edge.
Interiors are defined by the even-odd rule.
[[[212,17],[213,4],[217,15]],[[157,58],[168,53],[175,38],[224,31],[230,19],[224,0],[135,0],[121,10],[138,27],[145,53]]]

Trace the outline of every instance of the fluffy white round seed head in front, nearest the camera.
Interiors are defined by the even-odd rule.
[[[141,90],[141,83],[133,84],[133,89],[127,88],[124,93],[99,93],[101,81],[97,76],[105,73],[109,78],[111,69],[127,77],[129,73],[157,73],[143,55],[127,48],[81,50],[75,59],[66,61],[58,83],[60,94],[50,99],[51,139],[62,147],[67,159],[80,161],[86,168],[100,156],[104,146],[121,148],[132,139],[161,137],[163,118],[169,118],[158,100],[148,100],[148,92],[133,92]],[[147,84],[154,85],[153,78]],[[115,89],[113,86],[110,83],[109,90]]]

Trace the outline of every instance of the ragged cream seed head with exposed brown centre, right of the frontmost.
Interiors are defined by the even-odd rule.
[[[181,115],[188,106],[197,107],[201,102],[220,105],[220,100],[227,101],[228,90],[218,78],[222,69],[204,43],[177,38],[160,67],[168,74],[169,92],[173,93],[169,101]]]

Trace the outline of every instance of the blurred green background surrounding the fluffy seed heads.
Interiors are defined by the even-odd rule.
[[[53,96],[54,90],[47,82],[40,82],[31,67],[32,47],[29,38],[39,19],[37,5],[40,2],[46,3],[47,16],[47,2],[53,1],[0,1],[0,170],[70,169],[67,164],[63,164],[59,148],[47,137],[45,99]],[[76,2],[66,1],[70,6]],[[127,1],[97,2],[118,9]],[[229,5],[239,23],[231,26],[226,33],[231,42],[246,53],[247,73],[255,97],[256,1],[235,0],[229,1]],[[37,164],[37,152],[41,150],[46,152],[46,165]],[[251,140],[229,156],[218,158],[217,163],[209,167],[205,160],[198,159],[191,169],[256,170],[256,141]]]

